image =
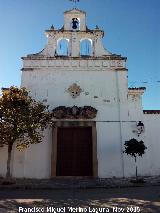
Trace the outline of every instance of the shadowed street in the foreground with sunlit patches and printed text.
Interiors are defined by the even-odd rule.
[[[24,209],[20,207],[23,207]],[[35,208],[31,209],[33,207]],[[21,211],[18,211],[18,209]],[[47,210],[48,212],[55,213],[160,213],[160,186],[119,189],[97,188],[0,191],[0,213],[47,212]]]

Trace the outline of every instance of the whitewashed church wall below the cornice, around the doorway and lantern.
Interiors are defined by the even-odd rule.
[[[127,96],[127,72],[106,70],[74,71],[55,68],[36,69],[22,73],[22,86],[27,87],[37,100],[47,100],[50,109],[59,105],[91,105],[98,109],[97,158],[98,176],[129,177],[135,175],[135,162],[123,153],[124,142],[131,138],[143,140],[148,147],[143,158],[139,158],[139,175],[159,175],[160,115],[143,115],[141,96]],[[83,92],[73,99],[67,88],[77,83]],[[97,86],[98,85],[98,86]],[[86,95],[87,92],[87,95]],[[107,100],[107,101],[106,101]],[[119,100],[119,101],[118,101]],[[121,123],[119,122],[121,120]],[[136,122],[142,120],[145,132],[139,137]],[[15,148],[11,171],[14,177],[49,178],[51,175],[51,130],[45,131],[43,143],[31,145],[25,152]],[[6,172],[6,148],[0,149],[0,174]],[[2,159],[1,159],[2,158]],[[3,165],[3,166],[2,166]]]

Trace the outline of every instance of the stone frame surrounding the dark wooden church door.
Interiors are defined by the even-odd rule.
[[[59,127],[91,127],[92,128],[92,156],[93,177],[98,177],[97,160],[97,130],[95,121],[57,121],[52,130],[51,178],[56,176],[57,166],[57,132]]]

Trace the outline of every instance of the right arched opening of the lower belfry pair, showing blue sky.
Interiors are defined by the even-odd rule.
[[[80,55],[81,56],[92,56],[92,40],[83,39],[80,42]]]

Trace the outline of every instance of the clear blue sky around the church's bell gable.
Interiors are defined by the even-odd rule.
[[[22,56],[41,51],[44,31],[63,26],[69,0],[0,0],[0,88],[20,86]],[[105,31],[103,44],[127,57],[128,84],[146,87],[144,109],[160,109],[160,0],[80,0],[87,26]]]

